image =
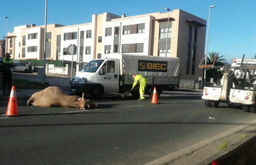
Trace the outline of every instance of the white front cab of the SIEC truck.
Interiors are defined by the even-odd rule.
[[[119,60],[101,58],[90,61],[71,81],[71,92],[90,94],[101,98],[104,92],[119,91]]]

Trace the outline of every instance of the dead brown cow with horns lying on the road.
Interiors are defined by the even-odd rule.
[[[84,94],[83,94],[84,95]],[[91,103],[79,96],[70,96],[59,87],[47,87],[43,91],[34,93],[27,105],[39,107],[70,107],[79,109],[94,109],[97,104]]]

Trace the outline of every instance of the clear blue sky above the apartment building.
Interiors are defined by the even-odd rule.
[[[182,9],[208,21],[211,9],[208,52],[219,52],[228,62],[231,58],[246,58],[256,54],[256,1],[255,0],[48,0],[47,23],[72,25],[92,21],[92,14],[110,12],[127,16],[152,12],[165,12],[164,8]],[[14,26],[34,23],[44,24],[44,0],[4,0],[0,11],[0,38],[6,35],[6,19],[9,17],[8,32]],[[208,24],[208,23],[207,23]]]

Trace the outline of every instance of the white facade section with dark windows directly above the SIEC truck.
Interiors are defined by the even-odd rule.
[[[144,43],[143,52],[141,53],[132,53],[137,55],[148,55],[148,46],[149,46],[149,32],[150,32],[150,16],[131,18],[131,19],[122,19],[117,21],[108,21],[103,23],[102,31],[102,55],[105,53],[105,45],[111,45],[111,53],[114,51],[114,30],[115,27],[119,26],[122,23],[121,27],[121,42],[120,42],[120,53],[122,53],[122,44],[136,44]],[[145,32],[137,34],[127,34],[123,35],[123,26],[145,23]],[[105,36],[106,28],[112,27],[112,36]],[[119,34],[120,35],[120,34]]]

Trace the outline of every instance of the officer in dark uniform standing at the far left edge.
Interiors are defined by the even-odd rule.
[[[5,54],[5,59],[0,61],[0,67],[2,69],[2,90],[3,96],[10,96],[11,92],[11,68],[15,67],[13,61],[10,59],[10,53]],[[7,85],[7,91],[6,91]],[[6,93],[7,92],[7,93]]]

